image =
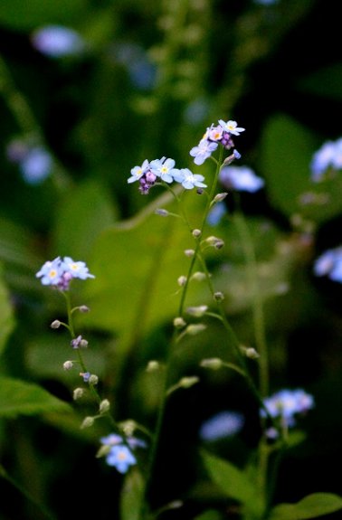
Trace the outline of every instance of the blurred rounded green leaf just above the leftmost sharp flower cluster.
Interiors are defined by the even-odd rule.
[[[86,259],[100,232],[115,221],[108,191],[97,181],[77,184],[60,204],[52,249],[57,255]]]

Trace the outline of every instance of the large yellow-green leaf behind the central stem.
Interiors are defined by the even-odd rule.
[[[191,195],[189,203],[199,198]],[[168,194],[136,218],[102,232],[94,243],[90,266],[96,279],[84,284],[83,293],[91,309],[87,325],[138,335],[176,317],[177,279],[187,273],[191,260],[184,251],[194,247],[195,241],[180,219],[153,214],[167,203]],[[173,206],[167,209],[176,211]],[[198,282],[191,284],[194,291],[199,287]],[[195,303],[192,300],[191,305]]]

